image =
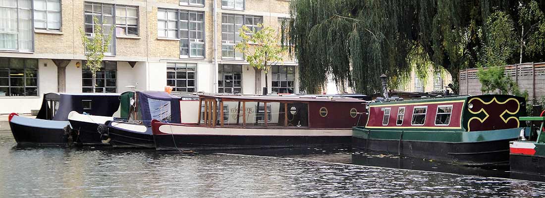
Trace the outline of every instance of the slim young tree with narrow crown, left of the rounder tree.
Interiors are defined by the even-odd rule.
[[[112,33],[114,26],[110,29],[111,34],[104,32],[102,23],[99,23],[98,18],[93,16],[94,36],[89,38],[85,32],[80,28],[81,39],[83,41],[83,47],[85,48],[85,57],[87,63],[85,66],[89,67],[89,71],[93,75],[93,92],[95,92],[96,86],[96,72],[100,71],[102,66],[102,59],[104,59],[104,53],[108,52],[108,46],[112,40]]]

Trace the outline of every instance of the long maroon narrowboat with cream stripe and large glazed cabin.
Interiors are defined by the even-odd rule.
[[[152,121],[158,150],[348,145],[365,101],[347,97],[203,95],[197,123]],[[362,118],[362,119],[365,119]]]

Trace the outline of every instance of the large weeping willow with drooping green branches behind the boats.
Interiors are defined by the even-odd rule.
[[[373,94],[381,90],[381,73],[396,87],[411,71],[426,77],[429,69],[449,72],[457,91],[459,70],[476,67],[485,53],[489,16],[505,11],[517,21],[529,2],[293,0],[286,37],[299,60],[300,88],[309,93],[331,75],[338,85]],[[544,55],[540,48],[525,59],[543,61]]]

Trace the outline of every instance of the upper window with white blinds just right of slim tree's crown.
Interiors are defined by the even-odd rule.
[[[138,35],[138,7],[116,5],[116,34]]]

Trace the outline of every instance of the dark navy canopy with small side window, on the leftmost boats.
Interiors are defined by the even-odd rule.
[[[119,94],[110,93],[48,93],[37,119],[68,121],[71,111],[99,116],[112,116],[119,108]]]

